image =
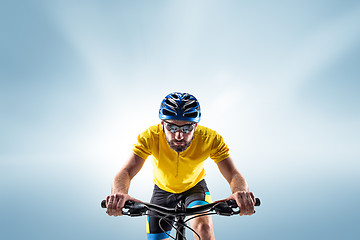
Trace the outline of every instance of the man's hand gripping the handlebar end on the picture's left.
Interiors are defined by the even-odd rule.
[[[123,215],[122,209],[125,205],[125,202],[128,200],[140,202],[139,200],[132,198],[128,194],[124,194],[124,193],[116,193],[116,194],[111,194],[111,195],[107,196],[106,197],[106,208],[107,208],[106,213],[109,216],[115,216],[115,217]]]

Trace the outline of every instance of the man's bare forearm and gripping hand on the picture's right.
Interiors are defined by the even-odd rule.
[[[252,215],[255,205],[254,194],[249,192],[248,184],[237,170],[234,161],[228,157],[217,163],[217,165],[232,191],[232,194],[226,200],[234,199],[236,201],[240,209],[240,215]]]

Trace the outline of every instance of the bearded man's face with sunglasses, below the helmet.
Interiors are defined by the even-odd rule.
[[[183,152],[189,147],[194,136],[196,123],[179,120],[164,120],[161,124],[163,125],[165,138],[171,149],[176,152]]]

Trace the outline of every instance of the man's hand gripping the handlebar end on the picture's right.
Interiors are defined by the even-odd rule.
[[[235,200],[239,206],[240,216],[254,214],[255,197],[252,192],[239,191],[234,192],[226,200]]]

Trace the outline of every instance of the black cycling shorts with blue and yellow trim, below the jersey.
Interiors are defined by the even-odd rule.
[[[186,207],[211,203],[211,197],[205,179],[201,180],[194,187],[183,193],[170,193],[155,185],[150,203],[158,204],[163,207],[174,208],[180,200],[185,202]],[[152,212],[152,214],[157,213]],[[167,238],[168,236],[164,233],[164,231],[170,233],[173,220],[173,217],[167,217],[166,221],[160,221],[159,217],[147,216],[146,232],[148,240]],[[161,224],[161,227],[159,223]]]

